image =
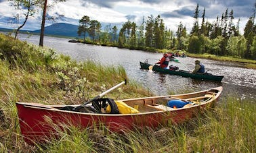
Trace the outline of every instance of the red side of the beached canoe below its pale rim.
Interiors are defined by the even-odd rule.
[[[201,105],[202,107],[202,105]],[[20,129],[28,144],[43,143],[54,136],[56,129],[64,125],[74,125],[85,129],[100,126],[102,123],[111,131],[125,131],[134,127],[158,127],[169,121],[182,123],[192,118],[199,107],[177,111],[161,111],[137,115],[97,115],[89,113],[74,113],[56,109],[38,109],[33,106],[17,103],[20,118]],[[201,108],[202,109],[202,108]]]

